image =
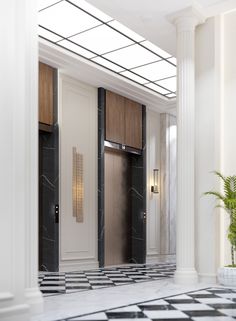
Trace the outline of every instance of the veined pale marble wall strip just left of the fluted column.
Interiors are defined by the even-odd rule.
[[[176,252],[176,117],[160,117],[160,254]]]

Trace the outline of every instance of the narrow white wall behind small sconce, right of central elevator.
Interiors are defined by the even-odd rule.
[[[160,194],[151,192],[153,169],[160,169],[160,114],[147,108],[147,262],[160,255]]]

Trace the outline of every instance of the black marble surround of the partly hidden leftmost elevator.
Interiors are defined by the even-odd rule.
[[[57,124],[57,71],[54,72],[54,125],[39,131],[39,270],[59,269],[59,127]]]

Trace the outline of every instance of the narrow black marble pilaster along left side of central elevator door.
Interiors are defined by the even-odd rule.
[[[104,266],[104,139],[106,91],[98,89],[98,261]]]

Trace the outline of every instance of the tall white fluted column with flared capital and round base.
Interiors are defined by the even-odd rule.
[[[195,8],[187,8],[171,17],[177,29],[177,222],[175,282],[194,284],[194,150],[195,150],[195,27],[203,22]]]

